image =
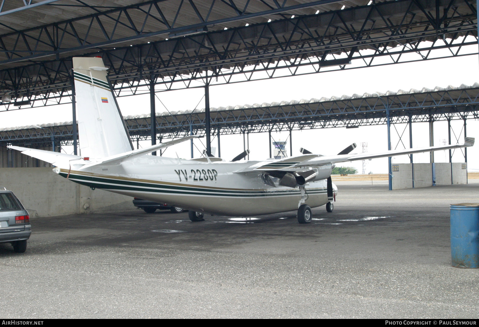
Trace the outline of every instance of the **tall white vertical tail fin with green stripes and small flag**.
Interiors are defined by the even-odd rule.
[[[105,158],[133,150],[100,57],[74,57],[80,154]]]

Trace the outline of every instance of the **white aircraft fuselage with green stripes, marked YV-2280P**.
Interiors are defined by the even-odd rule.
[[[69,171],[68,179],[95,189],[207,214],[246,216],[297,210],[301,199],[298,187],[279,186],[274,178],[265,180],[262,171],[234,172],[254,163],[142,156],[121,165],[56,171],[63,177]],[[305,203],[310,207],[329,202],[326,180],[311,181],[305,188]],[[333,191],[337,192],[335,185]]]

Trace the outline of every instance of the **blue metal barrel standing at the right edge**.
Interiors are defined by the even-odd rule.
[[[456,268],[479,268],[479,203],[451,204],[451,258]]]

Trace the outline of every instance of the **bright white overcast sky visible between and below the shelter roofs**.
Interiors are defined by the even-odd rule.
[[[449,51],[449,50],[444,50]],[[477,52],[477,46],[464,49],[464,51]],[[436,52],[436,56],[440,53]],[[263,102],[281,102],[301,99],[311,99],[331,96],[362,95],[363,93],[382,92],[388,90],[398,91],[429,88],[435,86],[447,87],[448,85],[460,86],[461,84],[472,85],[479,81],[479,60],[477,55],[462,56],[457,58],[437,59],[413,63],[395,64],[388,66],[360,68],[344,71],[323,72],[305,76],[285,77],[280,79],[268,79],[236,83],[229,85],[213,85],[210,87],[210,106],[226,107],[237,104],[253,104]],[[354,64],[354,62],[353,62]],[[192,110],[203,97],[203,89],[188,89],[157,93],[163,104],[169,111]],[[130,96],[118,99],[120,109],[124,116],[149,113],[149,96]],[[204,108],[204,100],[201,100],[198,108]],[[160,101],[157,100],[157,112],[166,111]],[[54,122],[71,121],[71,105],[56,107],[33,108],[0,113],[0,127],[24,126],[32,124],[45,124]],[[453,121],[454,132],[459,135],[462,130],[462,121]],[[406,124],[395,125],[399,134],[404,132],[402,142],[409,147],[409,130]],[[477,120],[468,120],[468,136],[475,137],[479,130]],[[273,133],[273,138],[285,141],[289,132]],[[447,122],[434,123],[434,145],[443,145],[447,140]],[[293,155],[300,155],[299,148],[305,147],[313,153],[337,154],[344,147],[356,143],[356,152],[361,152],[361,143],[367,143],[368,152],[383,152],[387,150],[386,125],[364,126],[354,129],[328,128],[305,131],[293,131]],[[464,135],[461,135],[461,142]],[[195,140],[195,157],[200,156],[204,147],[205,139]],[[391,143],[394,149],[399,142],[395,128],[391,127]],[[140,146],[147,146],[151,141],[140,142]],[[452,143],[456,143],[452,136]],[[269,157],[269,145],[267,133],[250,134],[249,142],[251,160],[262,160]],[[212,141],[212,147],[217,146],[216,138]],[[413,147],[429,146],[428,124],[413,124]],[[398,148],[403,148],[399,142]],[[66,147],[65,151],[71,153],[72,147]],[[243,151],[242,135],[221,136],[221,157],[231,159]],[[190,158],[190,144],[186,142],[175,147],[168,148],[165,156],[176,157],[175,152],[181,158]],[[287,150],[289,154],[289,147]],[[464,157],[460,150],[456,150],[453,157],[455,162],[463,162]],[[436,152],[436,162],[448,161],[445,151]],[[400,156],[393,158],[394,163],[409,162],[409,157]],[[414,155],[414,162],[429,162],[429,154]],[[354,166],[361,172],[361,161],[344,164]],[[479,169],[479,146],[468,149],[468,168]],[[367,162],[366,173],[384,173],[388,171],[387,158],[373,159]]]

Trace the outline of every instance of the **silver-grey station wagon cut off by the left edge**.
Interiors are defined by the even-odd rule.
[[[11,243],[15,252],[25,252],[32,233],[30,216],[11,191],[0,189],[0,243]]]

